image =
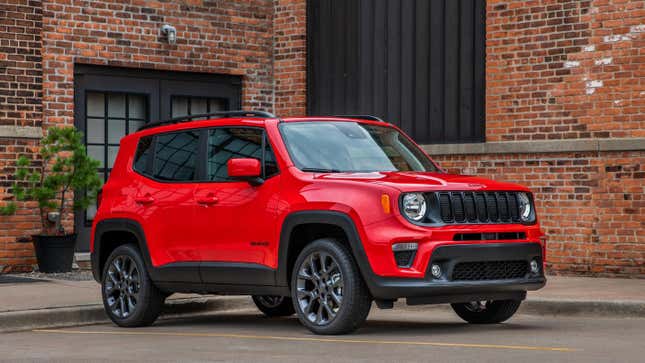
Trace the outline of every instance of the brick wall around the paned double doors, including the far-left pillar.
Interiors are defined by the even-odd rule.
[[[240,75],[242,107],[273,108],[271,0],[18,0],[0,9],[0,127],[73,125],[74,64]],[[175,45],[161,39],[165,23],[177,29]],[[0,135],[1,198],[17,156],[35,146]],[[33,204],[0,219],[0,271],[32,268],[39,224]]]

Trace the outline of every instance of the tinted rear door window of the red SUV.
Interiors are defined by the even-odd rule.
[[[168,181],[194,180],[198,147],[197,131],[157,135],[153,176]]]

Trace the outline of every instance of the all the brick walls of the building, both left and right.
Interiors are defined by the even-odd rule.
[[[51,0],[42,25],[40,1],[0,9],[0,127],[72,124],[75,63],[241,75],[245,108],[305,113],[305,0]],[[645,277],[643,147],[567,151],[645,137],[644,19],[645,0],[487,1],[486,140],[516,152],[436,158],[531,187],[554,273]],[[176,45],[160,41],[164,23]],[[522,151],[549,140],[560,151]],[[34,146],[0,137],[0,169]],[[0,220],[0,266],[34,263],[28,207]]]

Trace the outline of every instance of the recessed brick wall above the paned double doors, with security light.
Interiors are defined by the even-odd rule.
[[[271,110],[270,0],[52,0],[43,6],[46,124],[73,123],[75,63],[243,76],[242,106]],[[177,43],[160,27],[177,28]]]

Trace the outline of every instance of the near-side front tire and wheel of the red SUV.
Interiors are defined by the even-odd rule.
[[[298,319],[315,334],[347,334],[367,319],[372,297],[351,252],[337,240],[305,246],[291,275]]]

